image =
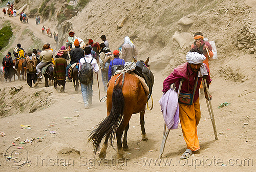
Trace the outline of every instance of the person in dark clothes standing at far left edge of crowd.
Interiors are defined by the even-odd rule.
[[[7,55],[3,58],[2,65],[5,67],[5,81],[7,82],[7,79],[9,78],[10,82],[12,79],[12,67],[13,67],[13,61],[11,57],[11,52],[8,52]]]

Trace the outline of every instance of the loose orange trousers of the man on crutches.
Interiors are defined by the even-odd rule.
[[[197,125],[201,118],[199,98],[191,105],[179,103],[180,124],[187,148],[196,151],[200,149],[197,136]]]

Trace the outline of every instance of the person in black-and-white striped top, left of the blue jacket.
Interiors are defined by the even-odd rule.
[[[101,69],[101,77],[102,82],[104,85],[104,91],[106,92],[108,88],[106,87],[106,84],[108,84],[109,81],[109,66],[110,61],[113,60],[113,55],[108,47],[105,46],[104,43],[100,44],[100,52],[99,52],[99,63],[100,63],[100,69]]]

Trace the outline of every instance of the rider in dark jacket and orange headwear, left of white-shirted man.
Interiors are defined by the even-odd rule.
[[[69,78],[69,68],[71,67],[71,65],[79,62],[80,58],[84,57],[84,51],[83,51],[83,49],[80,48],[78,39],[75,39],[74,46],[75,46],[75,48],[69,52],[70,63],[66,68],[66,76],[68,77],[66,82],[72,82],[71,78]]]

